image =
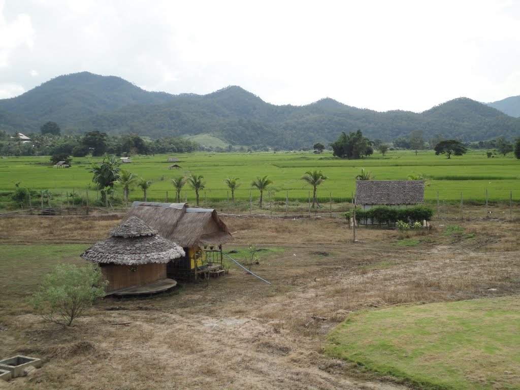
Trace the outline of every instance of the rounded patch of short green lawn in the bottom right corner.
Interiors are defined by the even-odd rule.
[[[351,315],[327,354],[427,388],[518,389],[520,296]]]

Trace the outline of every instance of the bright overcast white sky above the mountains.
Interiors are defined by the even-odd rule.
[[[520,1],[0,0],[0,98],[62,74],[421,112],[520,95]]]

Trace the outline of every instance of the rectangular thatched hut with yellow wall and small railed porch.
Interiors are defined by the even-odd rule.
[[[197,279],[201,273],[219,275],[222,271],[222,245],[233,237],[215,210],[191,208],[186,203],[134,202],[123,220],[132,216],[184,249],[183,257],[168,263],[168,277]]]

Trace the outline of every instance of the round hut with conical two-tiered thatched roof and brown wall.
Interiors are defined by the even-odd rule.
[[[166,277],[166,266],[184,257],[184,250],[159,236],[156,229],[132,216],[112,229],[109,236],[81,255],[99,264],[108,280],[107,294],[157,292],[177,283]]]

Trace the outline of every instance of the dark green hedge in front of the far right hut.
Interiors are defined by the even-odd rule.
[[[395,225],[398,220],[413,224],[423,220],[431,220],[433,209],[428,206],[412,206],[406,209],[395,209],[390,206],[375,206],[368,210],[357,210],[356,220],[371,219],[375,224]]]

